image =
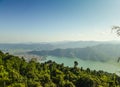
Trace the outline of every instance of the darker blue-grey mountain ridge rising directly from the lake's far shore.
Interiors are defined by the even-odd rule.
[[[77,57],[83,60],[108,61],[116,60],[120,56],[120,45],[118,44],[101,44],[85,48],[67,48],[55,49],[51,51],[31,51],[30,54],[40,56],[57,56],[57,57]]]

